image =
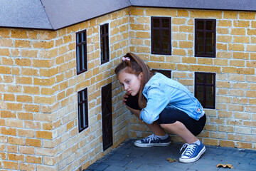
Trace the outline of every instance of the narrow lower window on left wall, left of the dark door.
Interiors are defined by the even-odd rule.
[[[79,133],[88,128],[87,88],[78,92],[78,130]]]

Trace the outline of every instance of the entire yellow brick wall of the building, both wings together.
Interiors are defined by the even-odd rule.
[[[151,16],[171,17],[172,55],[151,55]],[[194,57],[194,19],[216,19],[216,58]],[[110,24],[110,62],[100,65],[100,25]],[[75,33],[87,29],[88,71],[76,74]],[[122,105],[114,67],[125,53],[193,93],[194,72],[216,73],[206,145],[256,149],[255,12],[127,8],[58,31],[0,28],[0,165],[5,170],[82,170],[150,130]],[[102,151],[102,86],[112,83],[114,145]],[[77,92],[88,88],[89,128],[78,133]],[[183,141],[173,135],[174,141]]]

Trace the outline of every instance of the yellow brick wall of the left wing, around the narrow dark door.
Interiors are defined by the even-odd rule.
[[[100,25],[110,62],[100,65]],[[75,33],[87,30],[88,70],[77,76]],[[129,52],[124,9],[58,31],[0,28],[0,157],[4,170],[82,170],[129,138],[113,68]],[[101,87],[112,83],[113,142],[102,151]],[[78,91],[88,88],[89,128],[78,133]]]

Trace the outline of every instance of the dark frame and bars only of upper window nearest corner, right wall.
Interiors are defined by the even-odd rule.
[[[159,19],[159,27],[154,27],[154,19]],[[168,19],[169,20],[169,28],[162,27],[162,20]],[[160,38],[160,52],[154,51],[154,30],[159,30],[159,38]],[[169,30],[169,53],[163,52],[163,34],[164,30]],[[171,55],[171,17],[161,17],[161,16],[151,16],[151,54],[159,54],[159,55]]]

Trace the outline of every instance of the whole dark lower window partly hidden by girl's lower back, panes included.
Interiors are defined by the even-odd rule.
[[[195,73],[195,97],[203,108],[215,108],[215,73]]]

